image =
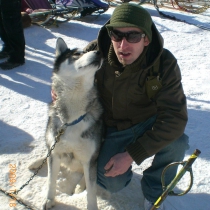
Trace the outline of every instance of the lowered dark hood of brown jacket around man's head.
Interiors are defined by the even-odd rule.
[[[110,23],[110,20],[100,29],[98,34],[98,48],[103,53],[103,56],[107,58],[109,48],[111,45],[111,39],[108,35],[106,25]],[[152,42],[148,46],[147,50],[147,67],[152,66],[156,60],[160,57],[163,51],[163,38],[157,30],[154,23],[152,23]]]

